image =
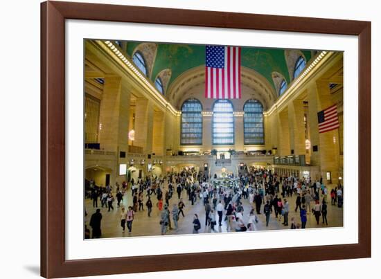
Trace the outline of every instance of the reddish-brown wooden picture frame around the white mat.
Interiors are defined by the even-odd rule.
[[[65,260],[65,19],[358,36],[360,193],[358,244]],[[41,4],[42,276],[57,278],[369,257],[371,257],[370,22],[58,1]]]

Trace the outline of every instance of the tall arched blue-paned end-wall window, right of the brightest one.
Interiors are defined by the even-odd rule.
[[[258,100],[247,100],[243,106],[244,143],[247,145],[265,144],[263,129],[263,106]]]

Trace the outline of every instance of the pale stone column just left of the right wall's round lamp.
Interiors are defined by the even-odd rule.
[[[295,155],[305,154],[305,127],[303,100],[290,101],[288,105],[290,149]]]

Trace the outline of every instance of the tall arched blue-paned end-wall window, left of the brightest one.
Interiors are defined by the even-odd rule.
[[[188,99],[181,107],[181,145],[202,145],[202,106]]]

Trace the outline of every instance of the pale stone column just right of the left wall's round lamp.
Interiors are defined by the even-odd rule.
[[[145,154],[152,153],[153,106],[145,98],[136,100],[134,145],[143,147]]]

